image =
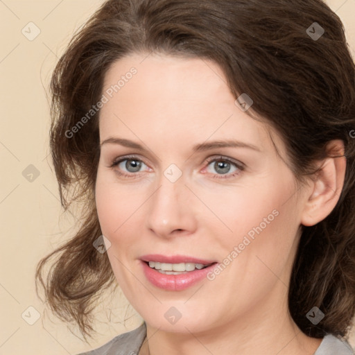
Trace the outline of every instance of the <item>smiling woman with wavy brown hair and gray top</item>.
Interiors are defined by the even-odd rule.
[[[144,322],[86,354],[353,354],[354,73],[320,0],[103,3],[51,82],[83,225],[37,278],[84,336],[116,284]]]

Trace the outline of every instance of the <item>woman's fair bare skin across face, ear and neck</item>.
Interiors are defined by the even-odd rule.
[[[101,145],[96,205],[117,282],[146,321],[148,343],[139,355],[314,354],[321,339],[304,335],[289,315],[288,279],[300,225],[318,223],[335,207],[345,158],[320,162],[322,174],[299,189],[281,137],[234,104],[216,63],[136,53],[110,67],[104,89],[131,67],[137,74],[101,109],[100,141],[120,137],[146,150]],[[195,144],[225,139],[259,151],[193,153]],[[332,143],[342,148],[341,141]],[[132,161],[110,167],[125,155],[141,160],[138,172]],[[227,164],[223,173],[216,165],[220,156],[244,168]],[[164,176],[171,164],[182,172],[176,182]],[[142,272],[139,258],[150,253],[223,263],[273,210],[277,217],[213,281],[165,291]],[[182,315],[175,324],[164,317],[172,306]]]

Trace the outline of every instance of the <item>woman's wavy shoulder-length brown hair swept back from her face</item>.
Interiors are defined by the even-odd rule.
[[[324,28],[319,39],[307,31],[314,22]],[[116,60],[153,52],[216,62],[232,94],[254,101],[247,113],[284,139],[296,181],[334,156],[329,141],[344,142],[343,190],[327,218],[302,226],[288,308],[308,336],[346,336],[355,314],[355,139],[349,133],[355,66],[342,22],[321,0],[109,0],[79,29],[50,86],[50,147],[61,204],[67,211],[72,202],[85,202],[78,231],[37,266],[36,286],[52,311],[91,336],[95,300],[115,284],[107,254],[93,247],[102,234],[94,197],[100,111],[72,137],[68,132],[100,100]],[[313,306],[325,315],[318,324],[306,318]]]

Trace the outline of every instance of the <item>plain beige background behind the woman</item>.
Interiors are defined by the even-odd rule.
[[[101,3],[103,0],[0,0],[1,355],[78,354],[141,322],[125,297],[116,295],[98,308],[99,334],[87,345],[76,336],[78,331],[73,334],[46,311],[35,294],[37,261],[63,241],[69,226],[75,224],[71,216],[61,214],[49,159],[49,78],[73,32]],[[327,3],[343,20],[354,55],[355,0]],[[27,25],[29,22],[35,25]],[[27,37],[35,31],[40,34],[30,41],[22,28]],[[33,175],[32,182],[27,180],[30,175],[23,175],[26,168],[27,174],[35,173],[33,167],[28,168],[30,164],[40,173]],[[30,306],[34,309],[28,309]],[[36,315],[40,318],[35,322]]]

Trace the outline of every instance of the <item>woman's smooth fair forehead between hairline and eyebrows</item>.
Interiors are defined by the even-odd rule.
[[[170,144],[177,136],[184,144],[227,137],[272,148],[268,125],[235,105],[226,82],[218,64],[200,58],[121,58],[105,75],[101,139],[114,132],[142,140],[159,135]]]

